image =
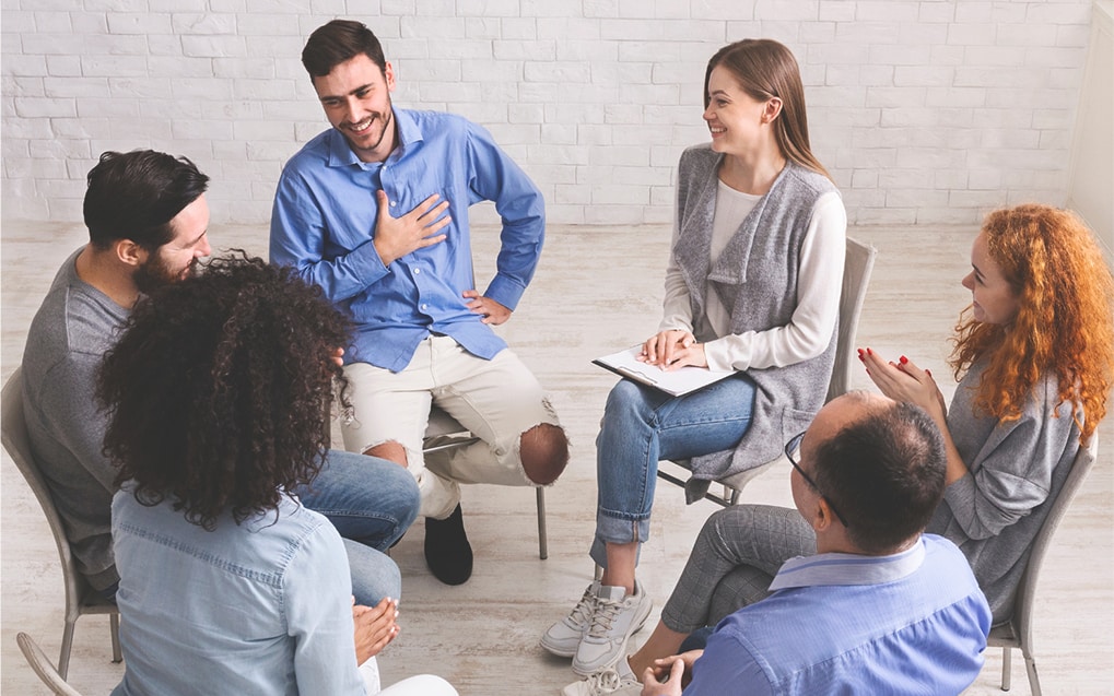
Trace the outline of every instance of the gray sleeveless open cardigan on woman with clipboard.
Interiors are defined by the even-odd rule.
[[[770,192],[754,206],[714,264],[709,258],[712,219],[723,155],[709,145],[681,156],[677,178],[677,242],[674,258],[684,277],[694,317],[704,314],[709,283],[731,312],[732,333],[783,326],[797,307],[801,245],[812,208],[836,190],[827,177],[786,163]],[[686,484],[690,502],[709,482],[775,459],[786,440],[808,428],[824,403],[836,360],[832,332],[817,357],[783,367],[749,370],[756,386],[750,428],[734,450],[695,457]],[[697,336],[707,340],[710,336]]]

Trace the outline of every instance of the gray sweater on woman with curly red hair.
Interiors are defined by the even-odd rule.
[[[956,388],[948,430],[970,473],[951,483],[927,531],[947,537],[970,561],[995,623],[1009,618],[1033,540],[1059,494],[1079,445],[1072,404],[1055,375],[1034,388],[1016,421],[974,413],[985,365]]]

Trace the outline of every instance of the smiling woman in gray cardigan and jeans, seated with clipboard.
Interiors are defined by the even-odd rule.
[[[847,214],[810,151],[797,61],[776,41],[740,41],[709,61],[704,87],[712,141],[681,156],[664,316],[639,360],[735,375],[682,396],[612,390],[592,546],[604,575],[541,639],[580,675],[614,665],[649,614],[635,566],[658,460],[691,460],[706,487],[774,459],[823,405],[832,370]],[[566,693],[607,693],[597,686]]]

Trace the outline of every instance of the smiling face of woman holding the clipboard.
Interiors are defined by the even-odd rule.
[[[753,151],[761,138],[770,137],[768,126],[781,109],[774,97],[759,101],[743,91],[727,68],[716,66],[707,80],[709,105],[704,120],[712,134],[712,149],[729,155]]]

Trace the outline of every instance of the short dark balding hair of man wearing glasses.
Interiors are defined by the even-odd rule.
[[[815,448],[813,476],[847,518],[851,541],[885,552],[919,533],[944,496],[947,457],[919,406],[872,410]]]

